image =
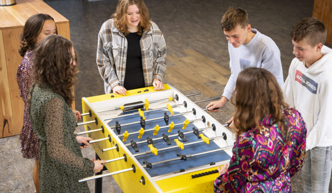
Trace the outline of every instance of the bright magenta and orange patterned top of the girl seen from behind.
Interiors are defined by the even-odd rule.
[[[290,177],[304,163],[306,126],[299,112],[284,110],[291,144],[285,144],[272,115],[239,135],[226,173],[214,181],[214,192],[291,192]]]

